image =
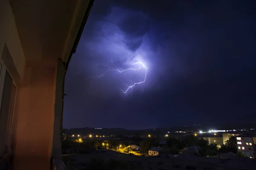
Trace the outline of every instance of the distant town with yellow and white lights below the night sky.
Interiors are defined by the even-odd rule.
[[[136,170],[251,170],[256,167],[256,131],[254,124],[245,127],[63,129],[62,158],[67,167],[78,170],[113,162]]]

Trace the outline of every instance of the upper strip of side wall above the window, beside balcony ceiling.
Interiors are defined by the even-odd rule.
[[[12,7],[9,0],[0,0],[0,54],[2,54],[5,43],[9,48],[18,74],[23,79],[26,60],[12,13]]]

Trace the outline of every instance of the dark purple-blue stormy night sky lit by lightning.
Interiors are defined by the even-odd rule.
[[[255,0],[95,0],[66,74],[63,127],[254,122],[255,9]],[[137,70],[115,70],[127,68]]]

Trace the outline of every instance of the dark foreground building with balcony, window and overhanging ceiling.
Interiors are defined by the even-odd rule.
[[[92,5],[0,0],[0,170],[63,165],[64,77]]]

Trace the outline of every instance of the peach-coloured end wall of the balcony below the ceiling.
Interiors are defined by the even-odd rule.
[[[57,67],[57,61],[56,61]],[[52,153],[56,67],[26,67],[18,88],[13,136],[14,170],[48,170]]]

